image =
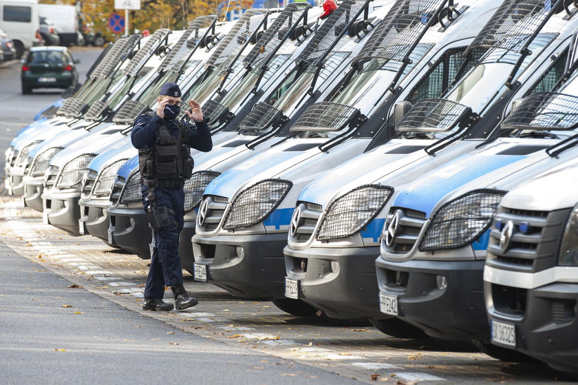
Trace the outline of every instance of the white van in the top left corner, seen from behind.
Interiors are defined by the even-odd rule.
[[[38,0],[0,0],[0,28],[14,41],[16,57],[40,45]]]

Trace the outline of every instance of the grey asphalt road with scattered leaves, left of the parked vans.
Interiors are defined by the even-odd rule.
[[[74,50],[80,79],[99,50]],[[20,92],[20,63],[0,65],[0,149],[61,90]],[[6,220],[2,218],[2,220]],[[352,384],[312,366],[213,342],[129,311],[0,242],[2,384]],[[70,307],[68,307],[70,306]]]

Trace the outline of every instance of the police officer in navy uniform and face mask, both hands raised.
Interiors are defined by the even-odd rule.
[[[138,149],[142,175],[142,201],[150,226],[155,230],[155,249],[144,288],[144,310],[169,311],[173,305],[162,300],[170,286],[177,310],[195,306],[182,284],[178,254],[179,233],[184,225],[184,181],[191,177],[191,148],[211,151],[213,142],[199,103],[189,101],[185,114],[195,121],[177,121],[182,94],[176,83],[160,88],[158,106],[136,118],[131,141]]]

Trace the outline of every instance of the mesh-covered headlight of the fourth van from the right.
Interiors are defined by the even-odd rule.
[[[279,206],[292,185],[289,180],[266,179],[247,187],[231,203],[223,229],[257,225]]]

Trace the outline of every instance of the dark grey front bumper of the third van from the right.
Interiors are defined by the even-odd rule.
[[[297,280],[298,296],[328,317],[387,318],[379,311],[375,259],[379,247],[295,250],[286,247],[287,278]],[[301,262],[306,264],[303,271]]]

